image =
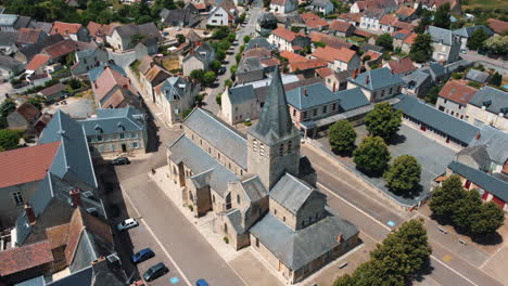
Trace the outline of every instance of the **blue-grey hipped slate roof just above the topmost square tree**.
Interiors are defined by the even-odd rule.
[[[369,80],[367,80],[367,77]],[[388,67],[370,69],[359,74],[356,78],[348,78],[347,80],[368,90],[378,90],[405,83],[401,76],[393,75]]]

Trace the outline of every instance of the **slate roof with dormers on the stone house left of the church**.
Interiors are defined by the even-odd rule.
[[[144,130],[144,114],[132,106],[97,109],[97,117],[78,121],[87,135]]]

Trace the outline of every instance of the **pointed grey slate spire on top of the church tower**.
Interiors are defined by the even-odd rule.
[[[293,136],[295,132],[297,130],[291,120],[280,70],[277,67],[272,74],[269,93],[265,100],[259,121],[249,129],[249,133],[267,144],[272,144],[278,140]]]

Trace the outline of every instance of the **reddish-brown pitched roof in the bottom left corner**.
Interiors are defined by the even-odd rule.
[[[53,261],[48,240],[0,251],[0,275],[9,276]]]

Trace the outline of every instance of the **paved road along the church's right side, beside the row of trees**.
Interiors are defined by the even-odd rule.
[[[318,174],[318,186],[335,198],[330,199],[330,206],[374,240],[382,240],[390,232],[391,229],[385,224],[389,220],[399,225],[410,217],[418,216],[417,213],[396,212],[389,203],[378,200],[369,191],[366,191],[356,178],[341,171],[310,147],[304,146],[302,153],[313,162]],[[330,168],[331,166],[333,168]],[[433,271],[428,277],[436,283],[441,285],[503,285],[459,258],[450,251],[449,247],[441,245],[441,242],[432,235],[430,235],[430,244],[433,250],[431,260]]]

